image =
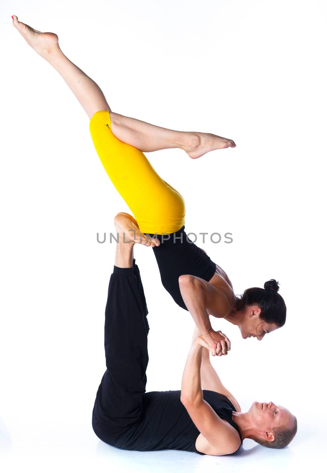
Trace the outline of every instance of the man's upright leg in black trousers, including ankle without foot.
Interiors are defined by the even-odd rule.
[[[148,363],[146,302],[133,243],[117,244],[105,309],[106,371],[96,394],[92,425],[96,435],[114,445],[142,410]],[[135,274],[136,273],[136,274]]]

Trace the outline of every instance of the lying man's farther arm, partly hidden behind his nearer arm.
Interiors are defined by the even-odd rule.
[[[198,327],[194,328],[192,343],[200,335]],[[236,401],[235,397],[225,388],[220,380],[215,368],[210,362],[209,351],[206,348],[202,350],[202,362],[201,362],[201,385],[202,389],[209,391],[215,391],[216,393],[224,394],[235,407],[237,412],[241,412],[241,406]]]

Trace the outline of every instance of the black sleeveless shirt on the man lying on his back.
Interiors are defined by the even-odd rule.
[[[203,390],[203,398],[216,414],[238,432],[232,420],[235,407],[223,394]],[[152,391],[142,396],[142,414],[139,422],[129,427],[114,445],[126,450],[187,450],[205,455],[195,447],[200,431],[181,403],[181,391]],[[242,438],[241,438],[242,443]]]

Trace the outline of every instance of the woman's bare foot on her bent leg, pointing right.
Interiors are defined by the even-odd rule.
[[[188,140],[188,144],[182,149],[192,159],[200,158],[200,156],[209,151],[214,151],[214,149],[235,148],[236,146],[233,140],[212,133],[190,132]]]

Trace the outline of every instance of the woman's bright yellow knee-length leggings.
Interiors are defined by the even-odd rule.
[[[178,231],[185,220],[181,194],[155,172],[142,151],[115,137],[108,110],[96,112],[89,127],[103,167],[140,231],[158,235]]]

